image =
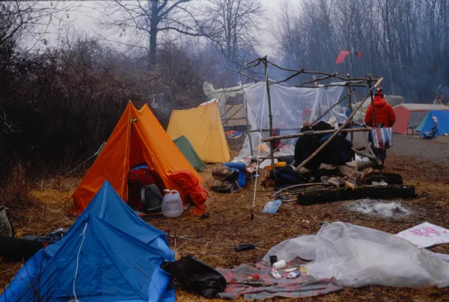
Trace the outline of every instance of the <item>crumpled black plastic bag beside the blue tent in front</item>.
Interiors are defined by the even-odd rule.
[[[215,298],[218,293],[225,291],[225,277],[192,255],[175,262],[163,262],[161,268],[170,273],[182,289],[205,298]]]

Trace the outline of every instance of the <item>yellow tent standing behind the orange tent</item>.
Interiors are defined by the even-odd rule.
[[[206,163],[227,163],[231,158],[217,102],[187,110],[173,110],[167,133],[184,135]]]

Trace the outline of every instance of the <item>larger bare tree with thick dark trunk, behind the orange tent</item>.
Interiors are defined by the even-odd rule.
[[[192,0],[137,0],[109,1],[103,4],[106,18],[100,21],[103,27],[116,29],[116,34],[126,35],[126,45],[147,51],[149,60],[156,64],[156,50],[161,32],[175,32],[189,36],[205,36],[207,22],[199,20],[190,6]],[[142,45],[142,41],[145,41]]]

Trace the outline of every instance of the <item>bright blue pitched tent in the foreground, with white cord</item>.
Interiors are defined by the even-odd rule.
[[[169,258],[168,258],[169,257]],[[8,301],[175,301],[165,234],[105,181],[62,240],[37,252],[0,296]]]

